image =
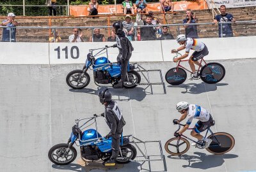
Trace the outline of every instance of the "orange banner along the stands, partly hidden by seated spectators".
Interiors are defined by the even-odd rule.
[[[189,2],[189,1],[179,1],[179,2],[173,2],[174,4],[174,11],[182,11],[182,10],[204,10],[207,9],[207,4],[204,0],[198,0],[195,3]],[[70,6],[70,15],[72,16],[87,16],[89,15],[88,12],[88,5],[78,5],[78,6]],[[134,4],[134,8],[136,9],[136,6]],[[136,10],[135,10],[136,11]],[[148,3],[147,5],[147,11],[161,11],[161,5],[159,3]],[[109,4],[109,5],[99,5],[98,8],[99,15],[104,14],[122,14],[122,4]]]

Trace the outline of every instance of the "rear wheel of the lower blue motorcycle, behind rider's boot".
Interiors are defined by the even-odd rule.
[[[137,155],[136,148],[134,146],[132,146],[131,144],[123,145],[121,147],[121,152],[122,152],[123,157],[121,157],[121,155],[119,155],[116,158],[116,162],[118,164],[127,164],[128,162],[133,160]]]

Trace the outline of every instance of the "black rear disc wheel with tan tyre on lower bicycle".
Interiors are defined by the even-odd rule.
[[[208,152],[215,155],[221,155],[229,152],[235,145],[235,139],[231,134],[228,133],[214,133],[208,137],[212,140],[211,145],[205,148]]]

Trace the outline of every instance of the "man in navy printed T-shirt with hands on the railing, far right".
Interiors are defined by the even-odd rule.
[[[226,13],[226,6],[220,6],[220,15],[216,15],[213,22],[217,24],[219,22],[219,37],[230,37],[233,36],[232,26],[231,24],[220,24],[223,22],[236,22],[236,19],[233,17],[232,14]],[[222,28],[221,28],[222,26]],[[221,32],[222,31],[222,32]]]

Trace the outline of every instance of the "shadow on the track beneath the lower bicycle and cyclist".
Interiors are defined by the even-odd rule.
[[[168,158],[184,159],[188,161],[188,165],[182,165],[183,168],[209,169],[221,166],[225,162],[224,159],[233,159],[238,157],[238,155],[234,154],[207,155],[202,152],[194,152],[194,154],[196,155],[169,155]]]

